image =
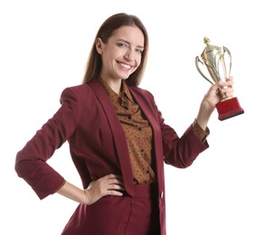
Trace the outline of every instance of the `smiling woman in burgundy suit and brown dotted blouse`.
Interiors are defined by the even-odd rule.
[[[185,168],[207,147],[207,123],[232,79],[214,84],[194,122],[177,136],[154,97],[138,88],[147,62],[147,30],[114,14],[92,45],[83,84],[64,89],[62,107],[16,156],[15,170],[40,199],[79,202],[62,234],[166,234],[164,162]],[[83,189],[46,161],[68,140]]]

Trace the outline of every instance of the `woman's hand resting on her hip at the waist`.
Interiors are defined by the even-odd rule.
[[[84,190],[84,203],[93,204],[107,195],[122,196],[123,193],[120,191],[124,190],[124,183],[120,175],[107,174],[99,180],[91,182]]]

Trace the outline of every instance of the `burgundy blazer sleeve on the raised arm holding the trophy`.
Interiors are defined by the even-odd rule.
[[[203,143],[195,135],[192,124],[187,127],[182,136],[178,136],[174,128],[166,125],[162,113],[156,106],[153,95],[150,92],[147,94],[151,99],[151,104],[161,129],[165,163],[172,164],[178,168],[190,166],[196,157],[209,147],[207,141],[205,140]]]

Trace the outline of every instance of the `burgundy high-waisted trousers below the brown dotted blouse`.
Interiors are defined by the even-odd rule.
[[[106,196],[80,204],[62,235],[158,235],[157,193],[150,184],[135,185],[135,195]]]

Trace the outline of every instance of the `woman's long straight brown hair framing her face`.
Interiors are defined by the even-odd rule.
[[[95,80],[100,76],[102,62],[100,54],[96,50],[96,39],[100,38],[102,42],[107,43],[109,37],[115,30],[119,29],[119,27],[134,25],[137,26],[144,35],[144,51],[142,53],[141,62],[137,68],[137,71],[130,74],[126,81],[130,86],[138,86],[139,82],[142,79],[147,64],[148,35],[145,26],[137,18],[137,16],[124,13],[113,14],[103,24],[101,24],[100,29],[96,34],[92,48],[90,50],[90,56],[87,62],[86,71],[82,83],[87,83],[90,80]]]

